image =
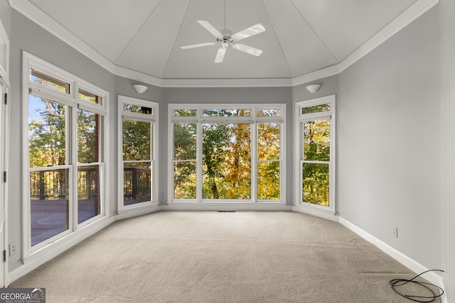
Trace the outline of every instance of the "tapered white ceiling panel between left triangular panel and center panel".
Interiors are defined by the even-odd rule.
[[[189,0],[161,1],[116,65],[162,78],[188,4]]]

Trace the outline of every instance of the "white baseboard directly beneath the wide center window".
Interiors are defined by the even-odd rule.
[[[284,203],[178,203],[160,206],[164,211],[292,211]]]

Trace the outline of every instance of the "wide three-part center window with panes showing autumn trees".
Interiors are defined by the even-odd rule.
[[[169,104],[171,202],[284,202],[284,104]]]

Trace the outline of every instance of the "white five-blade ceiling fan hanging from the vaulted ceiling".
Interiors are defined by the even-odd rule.
[[[262,33],[265,31],[264,26],[261,23],[257,23],[250,28],[245,28],[243,31],[235,33],[232,35],[231,31],[222,30],[221,32],[214,28],[208,21],[198,20],[198,23],[203,26],[207,31],[209,31],[212,35],[215,36],[215,42],[205,42],[205,43],[198,43],[192,45],[185,45],[181,46],[180,48],[186,50],[188,48],[200,48],[201,46],[208,46],[208,45],[215,45],[219,44],[220,48],[218,48],[218,53],[215,57],[215,63],[223,62],[225,57],[226,50],[228,50],[229,46],[231,46],[235,50],[240,50],[241,52],[245,52],[250,55],[259,56],[262,54],[262,50],[257,48],[252,48],[251,46],[237,43],[242,39],[251,37],[252,35],[257,35],[258,33]]]

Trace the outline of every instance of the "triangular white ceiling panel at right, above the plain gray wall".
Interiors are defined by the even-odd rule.
[[[417,0],[291,0],[338,62]]]

